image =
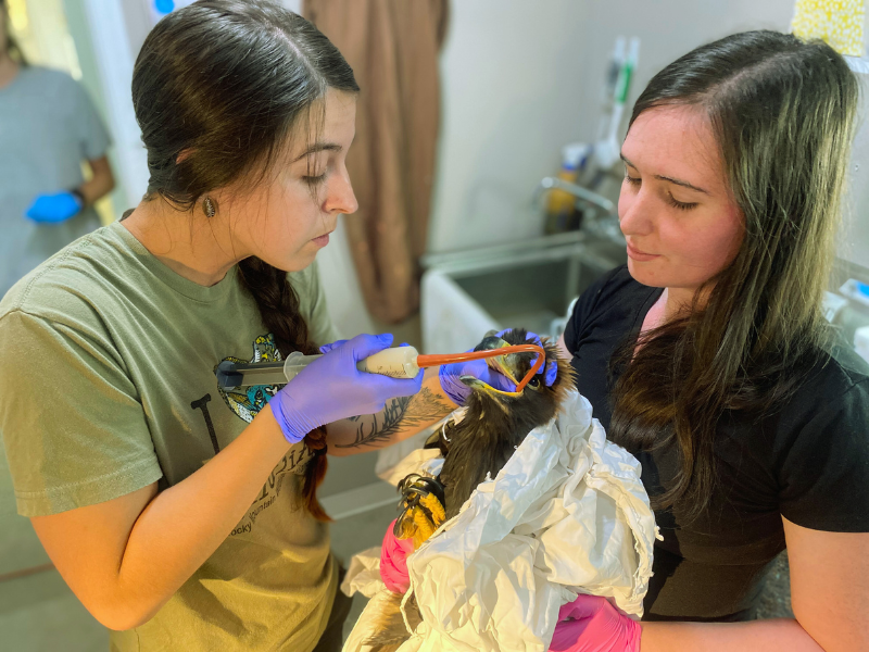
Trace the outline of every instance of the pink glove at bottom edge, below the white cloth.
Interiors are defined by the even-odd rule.
[[[640,652],[641,634],[606,598],[580,594],[558,612],[550,652]]]

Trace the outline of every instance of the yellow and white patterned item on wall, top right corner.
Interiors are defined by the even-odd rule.
[[[840,54],[862,57],[866,0],[796,0],[791,29],[801,38],[820,38]]]

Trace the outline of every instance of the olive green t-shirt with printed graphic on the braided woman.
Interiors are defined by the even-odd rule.
[[[336,339],[315,266],[289,277],[311,339]],[[199,286],[114,223],[25,276],[0,301],[0,437],[18,512],[163,490],[201,468],[278,389],[225,392],[214,369],[227,359],[280,359],[236,267]],[[293,446],[214,554],[151,620],[112,632],[112,649],[313,649],[337,573],[327,527],[301,507],[310,457]]]

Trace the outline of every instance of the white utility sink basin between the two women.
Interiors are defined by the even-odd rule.
[[[626,260],[624,248],[582,231],[426,256],[424,349],[464,351],[509,327],[557,338],[572,300]]]

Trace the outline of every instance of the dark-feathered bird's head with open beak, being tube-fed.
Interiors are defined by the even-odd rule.
[[[525,344],[528,343],[526,336],[527,331],[521,328],[508,330],[503,337],[489,334],[474,350],[483,351]],[[544,372],[536,374],[520,392],[500,391],[478,378],[463,376],[462,381],[474,390],[466,402],[468,409],[473,413],[479,412],[480,417],[498,418],[495,415],[503,413],[515,422],[515,426],[530,426],[529,430],[549,423],[558,411],[558,405],[568,389],[574,386],[574,369],[567,360],[558,356],[557,347],[545,338],[543,339],[543,349],[546,352],[546,360],[541,367]],[[486,363],[490,368],[518,385],[530,371],[536,358],[537,353],[532,352],[508,353],[489,358]],[[557,366],[557,375],[555,381],[551,386],[546,386],[545,369],[552,364]]]

